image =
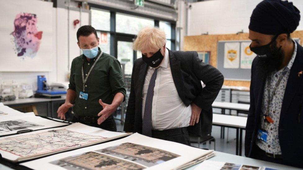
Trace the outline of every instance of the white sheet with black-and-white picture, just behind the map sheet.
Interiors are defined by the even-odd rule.
[[[67,125],[67,123],[35,116],[34,112],[22,113],[20,116],[3,116],[0,119],[0,136],[14,134],[19,130],[38,130],[64,125]]]

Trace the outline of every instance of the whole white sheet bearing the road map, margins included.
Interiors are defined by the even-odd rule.
[[[90,146],[127,135],[130,134],[74,123],[61,128],[1,137],[0,153],[3,158],[17,162]]]

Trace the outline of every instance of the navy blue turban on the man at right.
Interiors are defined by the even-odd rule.
[[[278,35],[294,32],[299,21],[300,11],[292,2],[264,0],[252,12],[248,28],[262,34]]]

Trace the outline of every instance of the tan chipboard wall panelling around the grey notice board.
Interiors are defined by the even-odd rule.
[[[184,51],[210,51],[210,65],[217,67],[218,41],[249,40],[248,36],[248,33],[186,36],[184,37]],[[300,44],[303,44],[303,31],[295,31],[291,37],[300,38]],[[225,80],[224,85],[249,87],[250,81]]]

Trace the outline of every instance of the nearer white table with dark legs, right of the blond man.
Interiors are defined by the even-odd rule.
[[[247,117],[213,114],[213,125],[236,129],[236,155],[240,156],[242,155],[242,131],[246,127],[246,121]]]

